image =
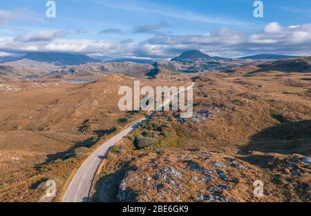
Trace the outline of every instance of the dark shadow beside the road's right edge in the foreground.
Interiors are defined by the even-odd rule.
[[[131,188],[125,188],[119,194],[119,186],[128,171],[135,170],[135,167],[125,165],[115,171],[100,177],[95,184],[95,193],[91,202],[137,202],[137,195]],[[119,199],[117,199],[119,197]],[[120,200],[121,199],[121,200]]]

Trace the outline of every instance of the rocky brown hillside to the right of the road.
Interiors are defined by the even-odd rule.
[[[94,202],[310,202],[310,80],[303,74],[192,79],[194,116],[158,112],[113,147]],[[254,197],[254,181],[263,197]]]

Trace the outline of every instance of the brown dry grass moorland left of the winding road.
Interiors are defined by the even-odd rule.
[[[149,86],[172,84],[141,81]],[[144,115],[117,108],[119,87],[133,86],[133,78],[122,75],[89,84],[67,84],[61,79],[2,79],[1,84],[9,86],[0,90],[3,202],[37,202],[47,179],[57,183],[56,200],[60,200],[64,184],[84,159],[75,156],[75,149],[86,147],[91,152],[112,132]]]

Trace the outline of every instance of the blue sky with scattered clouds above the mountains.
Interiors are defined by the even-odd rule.
[[[0,57],[81,53],[102,59],[169,59],[185,50],[212,56],[311,55],[311,1],[0,1]]]

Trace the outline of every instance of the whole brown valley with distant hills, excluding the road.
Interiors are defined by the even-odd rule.
[[[83,162],[148,114],[117,107],[120,86],[138,80],[193,82],[194,115],[156,111],[113,146],[89,201],[310,202],[310,57],[280,58],[1,63],[0,200],[61,202]],[[56,197],[44,197],[49,179]]]

